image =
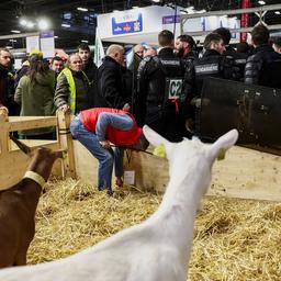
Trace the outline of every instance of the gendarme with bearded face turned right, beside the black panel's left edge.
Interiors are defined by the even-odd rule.
[[[217,33],[210,33],[204,41],[204,54],[187,69],[187,92],[191,97],[189,100],[195,105],[193,119],[195,119],[195,134],[200,133],[200,105],[201,91],[204,79],[207,77],[239,80],[239,69],[233,58],[224,56],[225,45],[223,38]]]

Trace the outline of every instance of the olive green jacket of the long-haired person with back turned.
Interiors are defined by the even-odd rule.
[[[21,104],[21,116],[55,115],[54,93],[55,72],[37,74],[36,82],[31,82],[29,76],[23,76],[15,89],[14,101]],[[45,134],[54,131],[50,127],[24,131],[26,135]]]

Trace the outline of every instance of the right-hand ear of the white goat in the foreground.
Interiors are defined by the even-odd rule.
[[[214,144],[210,147],[210,158],[214,160],[218,154],[220,150],[226,151],[228,148],[231,148],[238,139],[238,131],[232,130],[228,133],[221,136]]]

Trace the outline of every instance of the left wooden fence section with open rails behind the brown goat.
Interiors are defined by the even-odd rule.
[[[22,140],[31,147],[45,146],[52,149],[66,148],[68,157],[57,160],[53,175],[76,177],[72,139],[68,133],[70,115],[59,112],[57,116],[5,116],[0,114],[0,190],[19,182],[30,162],[29,156],[22,153],[9,138],[10,132],[55,126],[57,140]]]

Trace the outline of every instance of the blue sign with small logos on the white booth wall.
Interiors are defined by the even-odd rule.
[[[142,13],[124,13],[112,18],[112,34],[128,34],[143,31]]]

